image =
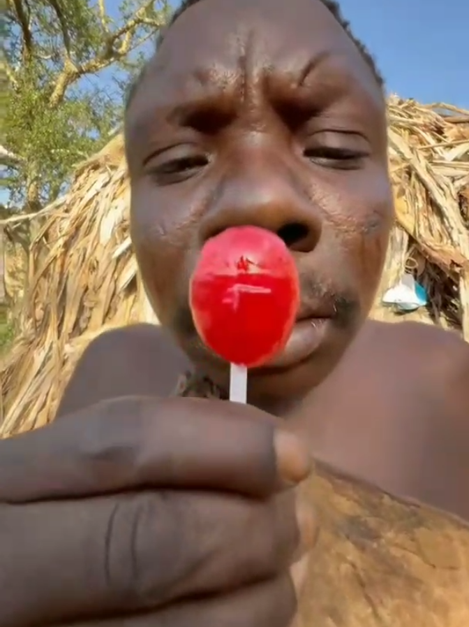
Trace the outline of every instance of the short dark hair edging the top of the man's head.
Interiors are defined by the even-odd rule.
[[[345,33],[347,33],[350,39],[352,40],[352,42],[355,43],[360,54],[364,58],[366,64],[371,69],[376,81],[378,82],[378,85],[384,92],[385,81],[382,78],[380,71],[378,70],[378,66],[376,65],[375,59],[373,59],[373,56],[368,51],[368,48],[366,48],[366,45],[362,41],[360,41],[359,38],[355,37],[355,35],[353,34],[352,29],[350,28],[350,22],[348,22],[348,20],[345,20],[345,17],[343,17],[342,11],[341,11],[340,6],[338,5],[338,2],[336,2],[335,0],[320,0],[320,1],[327,9],[329,9],[332,15],[334,15],[334,18],[344,29]],[[177,10],[175,10],[174,13],[172,14],[172,17],[170,21],[168,22],[168,24],[166,24],[165,27],[161,29],[161,31],[158,32],[158,38],[156,41],[156,50],[158,50],[158,48],[163,43],[165,39],[165,35],[168,32],[168,29],[170,29],[170,27],[172,27],[174,22],[177,21],[177,18],[180,17],[186,9],[190,8],[194,4],[197,4],[198,2],[200,2],[200,0],[183,0],[179,8],[177,8]],[[142,67],[142,69],[140,70],[140,73],[137,74],[136,78],[131,82],[131,85],[128,88],[128,91],[126,94],[126,103],[125,103],[126,110],[133,100],[133,96],[135,95],[135,92],[137,91],[137,88],[140,85],[142,78],[144,77],[144,73],[146,69],[147,69],[147,64],[145,64]]]

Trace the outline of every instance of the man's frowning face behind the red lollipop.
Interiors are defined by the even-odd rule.
[[[202,0],[168,31],[126,119],[131,229],[161,324],[216,382],[188,308],[204,242],[230,226],[278,233],[295,257],[298,322],[253,370],[253,397],[301,396],[366,318],[392,224],[385,103],[318,0]],[[227,331],[228,332],[228,331]]]

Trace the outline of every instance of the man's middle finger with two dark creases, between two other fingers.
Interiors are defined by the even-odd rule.
[[[168,492],[8,505],[1,519],[2,626],[237,589],[288,570],[299,543],[292,491],[269,501]]]

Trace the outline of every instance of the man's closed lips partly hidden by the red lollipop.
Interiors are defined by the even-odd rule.
[[[255,370],[261,373],[290,368],[306,361],[324,343],[332,324],[332,317],[298,319],[283,350]]]

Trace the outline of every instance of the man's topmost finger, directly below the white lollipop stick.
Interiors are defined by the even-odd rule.
[[[142,487],[266,497],[310,470],[272,417],[227,401],[125,398],[0,442],[0,502]]]

